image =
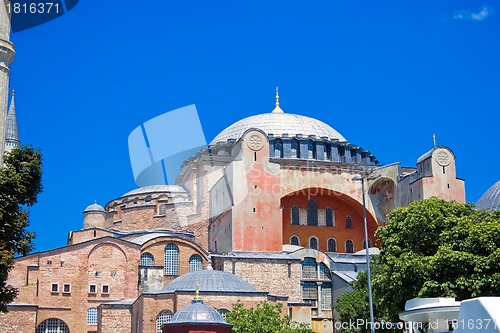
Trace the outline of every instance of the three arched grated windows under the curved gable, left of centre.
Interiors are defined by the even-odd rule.
[[[154,256],[145,252],[141,254],[141,266],[154,266]],[[198,254],[193,254],[189,257],[189,272],[201,271],[203,268],[203,260]],[[163,256],[163,270],[165,275],[179,275],[179,247],[175,244],[165,246]]]

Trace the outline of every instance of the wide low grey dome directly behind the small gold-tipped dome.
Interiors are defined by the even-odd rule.
[[[257,289],[236,275],[217,270],[184,274],[167,284],[162,291],[195,291],[196,283],[198,289],[204,292],[257,292]]]

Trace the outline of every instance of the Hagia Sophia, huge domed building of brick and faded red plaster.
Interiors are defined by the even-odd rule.
[[[7,111],[14,48],[8,33],[0,39],[8,151],[20,144],[13,94]],[[332,332],[332,305],[366,270],[362,181],[370,253],[394,208],[432,196],[465,202],[450,148],[434,146],[406,167],[380,165],[358,144],[287,113],[276,92],[274,109],[222,129],[181,165],[175,185],[90,204],[66,246],[15,259],[7,284],[19,294],[0,314],[0,332],[159,333],[195,308],[227,330],[210,309],[261,301]],[[497,183],[478,206],[498,207],[499,193]]]

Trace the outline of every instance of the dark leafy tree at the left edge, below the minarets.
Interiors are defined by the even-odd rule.
[[[28,232],[27,207],[36,203],[42,190],[42,156],[29,146],[14,148],[0,168],[0,312],[12,302],[17,290],[6,284],[15,255],[33,249],[34,234]]]

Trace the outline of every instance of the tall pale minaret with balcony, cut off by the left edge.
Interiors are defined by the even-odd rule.
[[[9,96],[10,64],[14,60],[15,47],[10,42],[10,0],[0,1],[0,166],[3,165],[7,104]]]

